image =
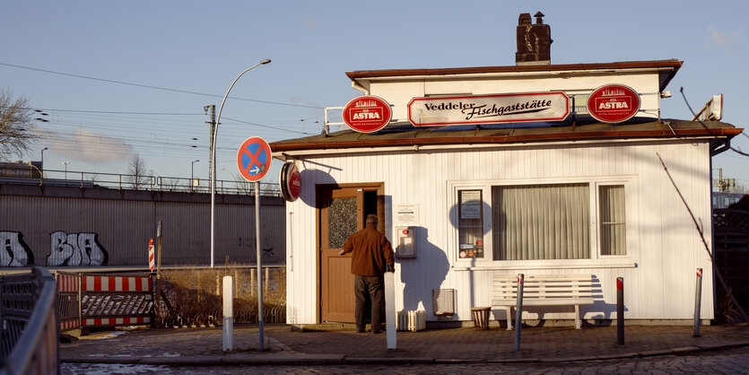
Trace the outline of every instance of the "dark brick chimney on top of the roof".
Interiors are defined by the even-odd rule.
[[[530,13],[520,13],[518,17],[518,52],[515,65],[549,65],[552,63],[552,28],[544,25],[544,13],[534,15],[536,24],[531,23]]]

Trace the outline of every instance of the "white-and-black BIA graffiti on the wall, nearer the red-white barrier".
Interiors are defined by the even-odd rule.
[[[109,255],[96,233],[55,231],[49,237],[47,266],[107,266]]]

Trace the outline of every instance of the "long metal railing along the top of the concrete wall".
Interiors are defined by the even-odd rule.
[[[38,170],[30,168],[28,175],[24,173],[23,175],[16,174],[13,177],[0,177],[0,182],[77,188],[117,188],[184,193],[211,193],[211,187],[209,186],[210,179],[161,177],[152,174],[127,175],[76,170],[43,170],[43,174],[40,175]],[[244,179],[217,179],[216,194],[255,195],[255,183]],[[281,196],[281,188],[277,183],[261,182],[260,195]]]

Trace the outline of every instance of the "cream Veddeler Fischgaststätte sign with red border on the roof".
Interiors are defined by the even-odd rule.
[[[570,114],[564,92],[414,98],[408,121],[414,126],[562,121]]]

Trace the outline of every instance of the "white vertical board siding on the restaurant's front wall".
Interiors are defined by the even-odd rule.
[[[711,275],[708,253],[692,219],[658,161],[666,162],[675,183],[710,243],[710,152],[698,141],[655,141],[563,144],[493,149],[445,148],[398,153],[328,153],[298,161],[302,176],[301,197],[287,205],[288,319],[293,324],[318,321],[318,253],[315,209],[316,184],[384,182],[386,234],[393,239],[395,205],[416,204],[418,227],[425,231],[417,243],[417,257],[398,259],[396,310],[418,310],[421,303],[432,314],[432,289],[455,289],[456,318],[471,319],[471,307],[489,306],[492,276],[533,274],[595,275],[599,283],[596,303],[581,307],[583,318],[615,318],[617,277],[624,278],[626,318],[692,318],[694,275],[701,267]],[[303,160],[314,161],[305,163]],[[452,269],[457,244],[449,221],[452,194],[449,182],[460,180],[510,180],[635,176],[638,200],[639,249],[635,267],[575,269]],[[488,199],[488,197],[485,197]],[[629,209],[629,208],[628,208]],[[703,279],[702,301],[712,301],[712,281]],[[492,311],[503,318],[503,311]],[[712,303],[702,303],[702,318],[712,318]],[[533,318],[532,316],[530,318]],[[550,308],[544,318],[571,318],[570,311]]]

